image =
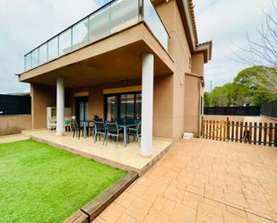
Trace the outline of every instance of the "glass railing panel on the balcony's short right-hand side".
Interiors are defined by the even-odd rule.
[[[143,0],[143,18],[155,37],[160,41],[162,47],[168,50],[169,34],[150,0]]]

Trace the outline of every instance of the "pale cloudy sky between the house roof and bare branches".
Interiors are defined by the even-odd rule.
[[[274,0],[275,1],[275,0]],[[195,0],[195,15],[200,42],[213,41],[212,61],[205,65],[206,90],[212,85],[232,81],[247,67],[234,61],[234,47],[246,47],[246,33],[257,39],[257,29],[264,23],[264,12],[270,13],[272,0]],[[276,15],[275,15],[276,16]]]

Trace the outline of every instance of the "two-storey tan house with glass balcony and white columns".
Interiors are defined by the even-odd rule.
[[[141,118],[141,153],[152,137],[177,142],[200,133],[203,65],[212,42],[198,43],[192,0],[114,0],[25,56],[19,81],[30,83],[32,128],[56,107],[79,119]]]

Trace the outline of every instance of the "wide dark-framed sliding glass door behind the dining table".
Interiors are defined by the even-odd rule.
[[[105,100],[106,119],[140,119],[142,111],[142,93],[122,93],[107,95]]]

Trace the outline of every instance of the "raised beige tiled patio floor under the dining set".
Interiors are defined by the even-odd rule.
[[[124,147],[122,139],[116,143],[108,141],[105,146],[101,141],[93,142],[92,137],[73,138],[71,132],[67,132],[65,136],[56,136],[56,132],[48,130],[39,131],[23,131],[30,138],[39,142],[45,142],[62,150],[68,150],[83,157],[97,160],[100,163],[107,164],[112,167],[118,167],[124,170],[133,170],[143,175],[160,157],[169,149],[172,142],[165,139],[153,140],[153,155],[151,158],[144,158],[140,155],[138,142],[133,142],[130,137],[130,143]]]

